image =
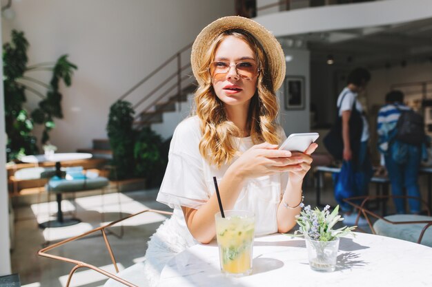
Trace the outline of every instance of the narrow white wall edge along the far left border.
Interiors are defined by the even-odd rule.
[[[1,16],[0,16],[1,18]],[[0,23],[1,28],[1,23]],[[0,31],[1,37],[1,31]],[[3,61],[0,59],[0,66]],[[0,69],[0,78],[3,78],[3,69]],[[6,147],[5,114],[3,98],[3,81],[0,83],[0,147]],[[9,240],[9,198],[6,185],[6,154],[0,149],[0,276],[10,274],[10,240]]]

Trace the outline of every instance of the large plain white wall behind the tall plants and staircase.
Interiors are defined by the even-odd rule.
[[[55,61],[61,54],[78,66],[72,87],[63,91],[63,120],[50,133],[59,151],[90,147],[106,138],[110,105],[181,47],[205,25],[233,14],[231,0],[21,0],[16,16],[3,19],[3,43],[12,28],[30,43],[29,64]],[[35,74],[36,75],[36,74]],[[49,74],[37,76],[49,81]],[[130,101],[153,87],[144,86]],[[39,98],[28,95],[28,107]],[[40,129],[39,129],[40,131]],[[41,134],[37,134],[41,138]]]

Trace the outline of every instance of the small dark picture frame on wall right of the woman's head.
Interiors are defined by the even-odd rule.
[[[284,80],[284,107],[288,109],[304,109],[306,97],[304,76],[286,76]]]

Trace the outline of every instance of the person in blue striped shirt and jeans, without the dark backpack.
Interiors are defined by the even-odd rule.
[[[386,105],[378,111],[378,149],[382,153],[382,159],[384,158],[384,164],[389,174],[391,193],[393,195],[403,195],[403,189],[405,188],[406,195],[420,198],[418,172],[422,148],[420,145],[409,145],[400,142],[397,142],[398,145],[395,144],[397,120],[399,120],[402,111],[409,109],[404,105],[404,94],[402,92],[391,91],[386,94]],[[396,153],[400,152],[397,149],[402,145],[406,149],[406,157],[403,161],[396,158]],[[402,198],[395,198],[394,203],[396,213],[405,213]],[[420,202],[418,200],[409,200],[409,208],[411,213],[420,213]]]

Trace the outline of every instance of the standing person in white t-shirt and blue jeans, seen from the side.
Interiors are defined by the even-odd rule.
[[[357,67],[348,74],[347,85],[337,98],[337,120],[341,121],[343,142],[341,175],[345,179],[347,176],[353,178],[348,181],[340,178],[335,184],[335,198],[344,212],[345,224],[355,224],[357,214],[352,213],[352,207],[342,199],[366,194],[373,173],[368,153],[369,125],[357,99],[370,80],[369,71]],[[341,182],[345,183],[341,186]],[[349,186],[346,186],[347,182]],[[366,220],[360,217],[357,224],[364,225]]]

